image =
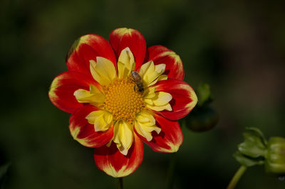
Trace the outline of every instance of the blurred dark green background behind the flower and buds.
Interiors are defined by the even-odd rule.
[[[165,45],[185,66],[185,80],[208,82],[219,124],[205,133],[182,127],[173,188],[226,188],[239,164],[232,154],[247,126],[285,137],[284,1],[1,0],[0,165],[4,188],[116,188],[99,171],[93,149],[74,141],[69,114],[51,104],[53,78],[79,36],[108,39],[135,28],[147,46]],[[171,154],[145,146],[125,188],[164,188]],[[3,167],[2,167],[3,171]],[[237,188],[285,188],[285,181],[249,168]]]

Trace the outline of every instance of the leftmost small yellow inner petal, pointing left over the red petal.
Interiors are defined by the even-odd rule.
[[[105,95],[94,85],[90,85],[90,91],[79,89],[73,95],[81,103],[100,104],[105,102]]]

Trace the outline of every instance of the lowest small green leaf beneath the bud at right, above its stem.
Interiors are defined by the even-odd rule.
[[[264,164],[264,158],[258,157],[258,158],[251,158],[249,156],[244,156],[242,153],[237,151],[234,153],[234,158],[243,166],[256,166],[256,165],[263,165]]]

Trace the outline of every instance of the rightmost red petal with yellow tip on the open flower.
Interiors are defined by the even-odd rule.
[[[197,96],[194,90],[181,80],[161,80],[155,85],[155,90],[168,92],[172,95],[170,101],[172,111],[156,112],[168,119],[177,120],[185,117],[197,104]]]

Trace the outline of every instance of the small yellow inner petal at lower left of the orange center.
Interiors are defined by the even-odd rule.
[[[105,110],[98,110],[88,114],[86,119],[89,124],[94,124],[95,131],[107,131],[113,120],[113,116]]]

